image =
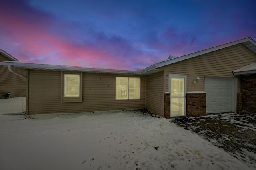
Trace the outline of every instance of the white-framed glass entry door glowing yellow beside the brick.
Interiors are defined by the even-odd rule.
[[[186,75],[169,74],[170,116],[186,115]]]

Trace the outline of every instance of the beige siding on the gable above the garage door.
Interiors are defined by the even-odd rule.
[[[240,91],[239,76],[232,71],[256,62],[256,55],[242,44],[233,45],[211,53],[186,59],[171,65],[160,67],[169,74],[187,75],[187,91],[204,91],[204,77],[237,78],[237,91]],[[200,77],[198,85],[194,85],[196,77]],[[168,91],[168,81],[166,81]]]

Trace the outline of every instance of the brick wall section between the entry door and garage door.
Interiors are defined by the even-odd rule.
[[[206,93],[187,93],[187,117],[197,117],[206,115]]]

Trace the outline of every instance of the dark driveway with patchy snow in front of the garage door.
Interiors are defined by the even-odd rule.
[[[171,121],[256,168],[256,115],[227,113]]]

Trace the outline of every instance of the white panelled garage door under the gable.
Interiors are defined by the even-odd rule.
[[[205,77],[206,113],[233,111],[234,81],[228,78]]]

